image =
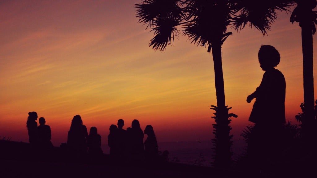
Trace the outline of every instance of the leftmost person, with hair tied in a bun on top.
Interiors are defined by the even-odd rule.
[[[26,128],[28,129],[29,142],[32,146],[38,143],[38,130],[37,130],[37,113],[35,111],[29,112],[28,120],[26,121]]]

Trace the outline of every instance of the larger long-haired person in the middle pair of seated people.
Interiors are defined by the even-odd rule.
[[[70,129],[68,131],[67,145],[68,148],[74,151],[86,152],[88,136],[87,128],[82,124],[80,115],[74,116]]]

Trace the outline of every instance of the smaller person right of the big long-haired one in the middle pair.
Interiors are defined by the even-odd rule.
[[[91,127],[87,137],[88,152],[91,155],[102,155],[101,136],[96,127]]]

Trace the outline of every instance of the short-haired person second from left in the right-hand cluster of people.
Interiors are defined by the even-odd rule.
[[[123,129],[124,121],[123,119],[118,120],[118,131],[117,131],[117,140],[118,140],[118,154],[124,156],[126,154],[126,142],[127,142],[127,133]]]

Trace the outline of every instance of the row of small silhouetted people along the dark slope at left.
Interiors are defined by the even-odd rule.
[[[37,126],[36,120],[37,113],[29,112],[27,120],[29,142],[32,146],[49,149],[53,146],[50,141],[51,129],[48,125],[45,125],[44,118],[39,118],[39,126]],[[159,159],[158,143],[151,125],[147,125],[144,132],[136,119],[132,121],[131,127],[128,127],[127,130],[123,129],[123,119],[119,119],[117,125],[110,125],[108,135],[110,155],[113,158],[131,158],[134,160],[145,158],[147,161]],[[144,134],[148,137],[143,143]],[[93,156],[103,154],[101,136],[98,134],[97,128],[91,127],[88,135],[87,127],[83,124],[80,115],[75,115],[72,119],[67,143],[64,144],[63,148],[65,148],[65,145],[67,150],[76,154],[85,153],[87,150]]]

